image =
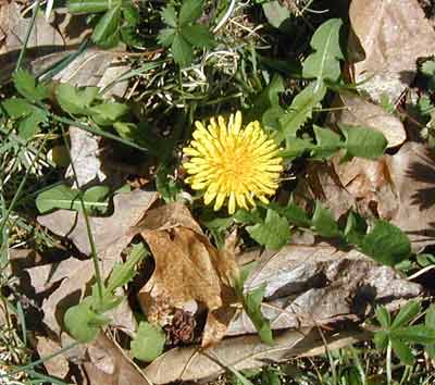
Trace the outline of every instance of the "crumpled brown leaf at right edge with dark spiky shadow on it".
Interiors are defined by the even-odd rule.
[[[427,146],[409,141],[394,156],[371,161],[352,159],[309,169],[301,191],[322,200],[336,218],[358,209],[390,221],[411,239],[413,251],[435,244],[435,158]],[[321,183],[319,183],[319,181]],[[346,197],[339,199],[337,196]]]

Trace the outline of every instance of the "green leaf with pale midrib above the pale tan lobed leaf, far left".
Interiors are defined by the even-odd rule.
[[[66,185],[58,185],[40,192],[36,197],[36,207],[41,214],[54,209],[82,210],[82,203],[78,198],[80,194],[82,191],[73,190]],[[107,186],[90,187],[83,195],[85,209],[104,212],[109,207],[108,195],[109,187]]]

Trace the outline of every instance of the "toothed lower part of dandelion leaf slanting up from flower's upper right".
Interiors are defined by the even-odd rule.
[[[281,129],[276,135],[276,141],[281,142],[287,139],[287,145],[291,145],[297,132],[312,117],[314,108],[320,107],[325,95],[326,87],[318,86],[315,83],[311,83],[299,92],[293,100],[287,113],[279,119]]]

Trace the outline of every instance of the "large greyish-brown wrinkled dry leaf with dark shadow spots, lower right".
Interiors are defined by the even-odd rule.
[[[264,252],[245,290],[265,285],[262,312],[273,330],[309,327],[343,319],[364,319],[378,303],[396,308],[422,294],[422,287],[403,280],[394,269],[364,254],[331,246],[287,246]],[[227,334],[256,333],[240,313]]]

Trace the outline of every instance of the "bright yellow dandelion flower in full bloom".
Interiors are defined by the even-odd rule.
[[[283,159],[278,147],[261,128],[259,122],[241,126],[241,113],[210,120],[204,127],[195,122],[190,145],[183,152],[190,159],[183,164],[192,189],[204,190],[203,200],[214,210],[226,203],[229,214],[236,206],[249,210],[254,199],[269,203],[268,196],[278,187]]]

